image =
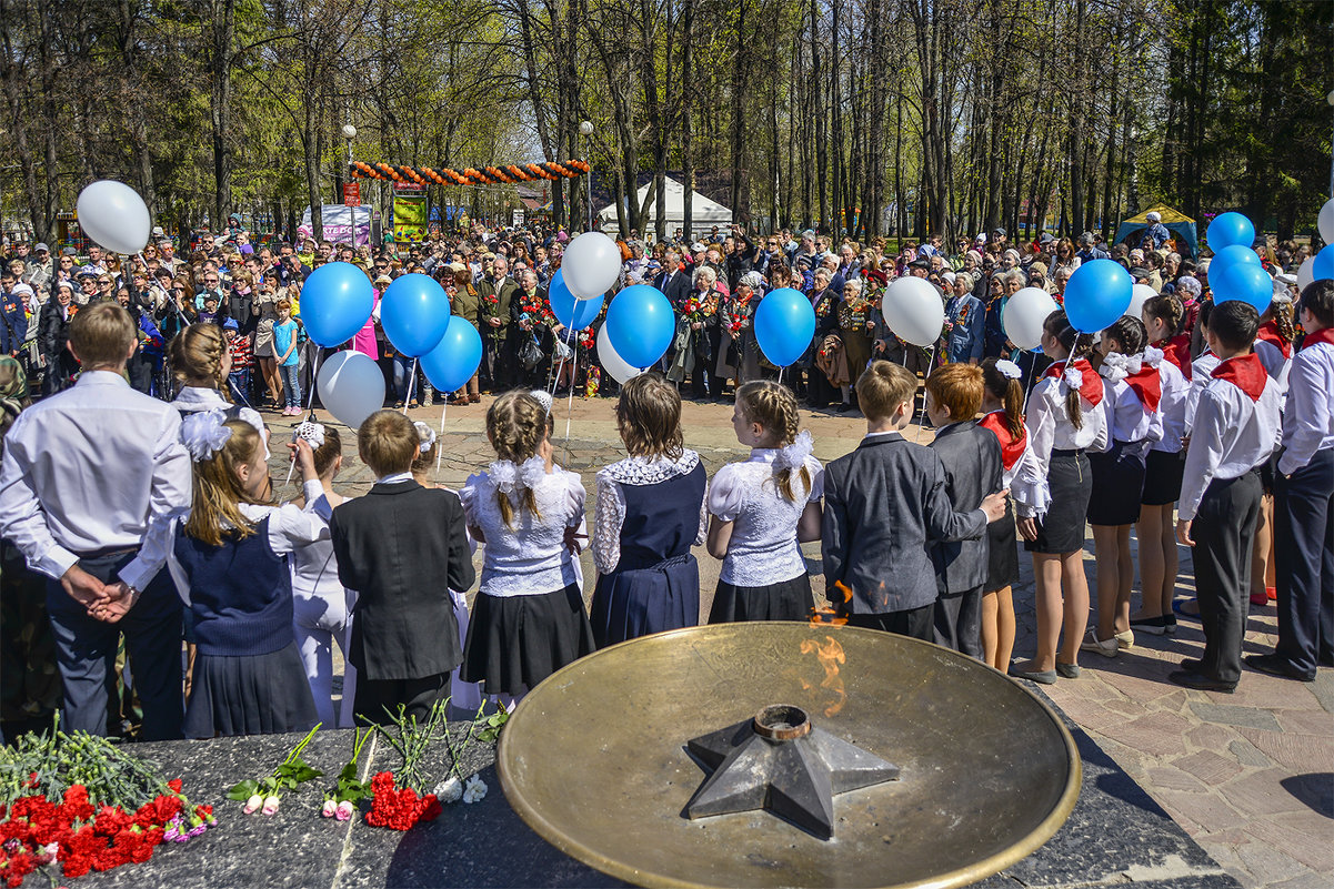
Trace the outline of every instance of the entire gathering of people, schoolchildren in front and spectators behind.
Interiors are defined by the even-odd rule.
[[[1309,681],[1334,657],[1334,283],[1298,295],[1287,269],[1305,248],[1257,244],[1275,275],[1270,307],[1215,304],[1207,260],[1183,260],[1151,223],[1143,247],[1110,252],[1093,236],[1010,247],[1002,229],[952,256],[939,239],[894,255],[844,240],[832,252],[814,232],[752,241],[739,228],[707,244],[622,241],[622,283],[662,289],[678,336],[659,372],[619,388],[630,456],[596,473],[591,536],[583,480],[551,445],[552,392],[590,385],[598,367],[590,332],[564,331],[544,299],[563,232],[475,229],[407,256],[204,236],[188,261],[164,239],[129,268],[96,248],[83,265],[63,252],[56,267],[43,244],[31,259],[17,249],[0,343],[5,720],[59,696],[64,725],[116,730],[121,638],[145,738],[378,721],[399,705],[424,716],[451,688],[508,706],[598,646],[695,624],[692,546],[722,560],[708,620],[810,618],[799,544],[814,541],[831,620],[1038,682],[1077,678],[1081,652],[1115,657],[1137,632],[1174,632],[1179,541],[1194,546],[1206,648],[1173,681],[1235,688],[1247,598],[1267,602],[1271,586],[1278,648],[1249,661]],[[1087,335],[1054,312],[1041,356],[1005,339],[1010,295],[1042,287],[1059,303],[1070,272],[1103,256],[1158,293],[1139,317]],[[303,494],[273,501],[279,445],[255,408],[303,413],[315,351],[303,341],[301,285],[334,260],[359,263],[378,295],[396,275],[435,275],[454,312],[478,324],[478,376],[438,395],[499,395],[486,416],[496,460],[458,492],[428,478],[443,446],[435,433],[382,411],[356,433],[376,476],[368,494],[339,494],[338,431],[305,420],[287,445]],[[879,293],[899,275],[940,288],[936,348],[883,327]],[[818,319],[807,359],[780,381],[748,324],[775,287],[806,292]],[[431,399],[375,315],[350,347],[384,363],[391,403]],[[902,435],[919,377],[930,446]],[[683,443],[687,383],[696,399],[730,393],[738,443],[751,449],[712,480]],[[29,404],[36,391],[45,397]],[[855,405],[866,437],[820,465],[800,399]],[[1021,538],[1038,645],[1014,661]],[[588,609],[586,545],[598,570]],[[334,646],[350,665],[340,713]]]

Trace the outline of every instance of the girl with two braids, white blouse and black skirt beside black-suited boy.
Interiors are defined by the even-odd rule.
[[[459,490],[468,533],[486,546],[462,676],[507,708],[594,649],[575,569],[586,494],[552,462],[551,429],[531,395],[500,396],[487,411],[499,458]]]

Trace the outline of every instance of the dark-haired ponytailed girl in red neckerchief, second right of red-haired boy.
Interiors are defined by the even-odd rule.
[[[1091,343],[1070,327],[1065,312],[1043,323],[1042,351],[1053,364],[1029,399],[1030,453],[1014,489],[1019,533],[1033,553],[1038,650],[1010,674],[1047,685],[1058,674],[1079,674],[1079,642],[1089,622],[1083,526],[1093,474],[1085,450],[1107,445],[1103,412],[1095,409],[1103,399],[1102,377],[1087,359]]]

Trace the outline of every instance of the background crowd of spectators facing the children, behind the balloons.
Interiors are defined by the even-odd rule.
[[[115,299],[139,320],[144,348],[129,367],[139,391],[169,397],[165,341],[188,324],[211,321],[233,341],[233,396],[293,413],[309,401],[317,367],[317,347],[305,337],[300,316],[305,277],[324,263],[346,261],[359,265],[375,289],[376,309],[350,345],[380,364],[388,405],[408,400],[476,404],[483,392],[519,384],[584,395],[600,387],[611,395],[615,381],[604,379],[594,348],[602,317],[586,331],[567,331],[547,297],[567,243],[564,231],[540,225],[487,229],[476,224],[467,232],[434,232],[422,243],[387,241],[378,249],[312,237],[256,245],[244,231],[228,229],[216,236],[195,233],[181,248],[184,259],[172,239],[156,239],[127,268],[96,245],[87,256],[67,247],[53,259],[45,244],[16,243],[0,264],[5,275],[0,352],[19,356],[41,393],[59,392],[77,373],[64,348],[69,317],[91,301]],[[658,369],[696,400],[720,400],[742,383],[778,379],[779,369],[764,357],[751,328],[755,308],[775,288],[803,292],[816,316],[810,349],[784,372],[783,381],[808,408],[835,411],[855,409],[852,383],[872,359],[920,375],[952,361],[1007,359],[1021,365],[1030,383],[1042,361],[1007,340],[1002,323],[1007,300],[1037,287],[1061,304],[1070,275],[1093,259],[1113,259],[1155,293],[1177,295],[1190,329],[1209,296],[1209,260],[1189,252],[1183,257],[1171,232],[1157,220],[1150,220],[1134,248],[1109,248],[1093,233],[1077,243],[1049,233],[1011,243],[998,228],[960,239],[950,251],[939,236],[922,244],[903,239],[891,247],[884,239],[859,244],[814,231],[751,237],[735,225],[715,228],[699,240],[678,231],[667,241],[648,241],[632,232],[619,247],[623,272],[615,289],[643,283],[666,293],[678,329]],[[1297,267],[1310,249],[1266,239],[1255,244],[1262,264],[1289,285],[1290,296],[1295,296]],[[452,313],[482,335],[482,367],[459,392],[434,392],[420,371],[412,380],[412,360],[395,351],[379,325],[380,295],[396,277],[412,272],[438,279]],[[904,275],[923,277],[940,292],[946,323],[932,347],[899,340],[880,315],[884,289]],[[1198,353],[1203,341],[1195,336],[1191,348]]]

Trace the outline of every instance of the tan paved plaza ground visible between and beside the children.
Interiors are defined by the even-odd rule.
[[[614,401],[575,399],[568,449],[558,461],[583,473],[594,494],[594,472],[623,456],[612,416]],[[556,440],[566,433],[564,403],[556,408]],[[439,428],[440,409],[416,409],[414,420]],[[443,436],[447,458],[439,482],[460,484],[486,466],[494,453],[486,440],[486,401],[450,408]],[[267,421],[275,445],[291,420],[273,413]],[[858,415],[802,412],[802,425],[815,437],[815,456],[830,460],[854,448],[864,432]],[[686,444],[699,450],[710,474],[744,450],[731,429],[731,407],[686,404]],[[910,437],[916,433],[910,432]],[[926,443],[931,433],[922,432]],[[339,488],[362,493],[370,472],[355,457],[355,435],[344,431],[344,473]],[[275,453],[275,465],[285,456]],[[285,474],[285,464],[276,477]],[[279,490],[291,496],[295,486]],[[591,524],[592,516],[590,516]],[[806,546],[812,586],[823,594],[819,545]],[[1086,562],[1094,588],[1093,544]],[[719,562],[700,548],[702,609],[708,613]],[[480,556],[478,560],[480,569]],[[1022,580],[1014,600],[1018,612],[1015,657],[1034,650],[1031,564],[1021,558]],[[1190,553],[1182,549],[1181,596],[1193,594]],[[584,576],[592,577],[584,556]],[[590,588],[591,594],[591,588]],[[1135,594],[1138,605],[1138,593]],[[1093,620],[1093,616],[1090,616]],[[1223,868],[1247,888],[1330,889],[1334,886],[1334,670],[1321,669],[1315,682],[1301,684],[1246,670],[1234,694],[1194,692],[1167,681],[1182,657],[1198,657],[1203,633],[1194,618],[1178,618],[1175,636],[1141,634],[1119,657],[1083,653],[1079,680],[1046,686],[1050,697],[1158,801]],[[1275,638],[1274,609],[1253,609],[1246,650],[1267,652]],[[339,668],[342,669],[342,668]]]

